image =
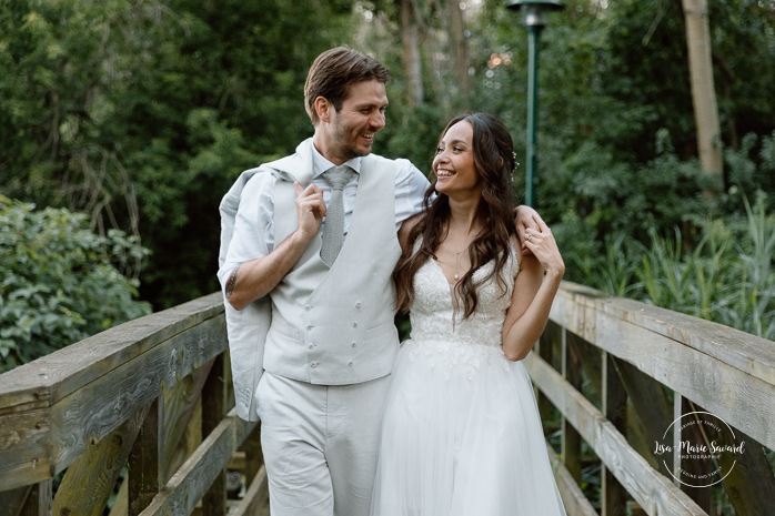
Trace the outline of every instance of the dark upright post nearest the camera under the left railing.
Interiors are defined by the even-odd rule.
[[[161,428],[159,398],[155,398],[142,422],[140,434],[129,454],[129,516],[137,516],[148,507],[161,489],[160,457]]]

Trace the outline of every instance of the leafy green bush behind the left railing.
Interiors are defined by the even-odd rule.
[[[150,313],[120,272],[147,251],[85,215],[0,195],[0,372]]]

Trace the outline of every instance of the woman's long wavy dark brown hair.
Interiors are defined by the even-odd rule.
[[[482,200],[477,209],[482,231],[469,246],[471,269],[454,290],[457,299],[463,302],[463,318],[467,318],[476,310],[476,289],[481,284],[496,275],[499,283],[505,286],[503,269],[509,262],[510,240],[515,231],[511,178],[516,168],[516,160],[509,130],[496,118],[486,113],[455,117],[446,124],[439,141],[452,125],[461,121],[466,121],[473,127],[474,165],[482,183]],[[446,237],[450,198],[437,193],[432,201],[435,185],[434,178],[431,188],[425,192],[420,220],[410,231],[407,243],[393,271],[396,287],[395,306],[402,313],[409,312],[414,303],[414,274],[429,259],[436,259],[435,252]],[[415,242],[421,235],[420,246],[415,250]],[[492,272],[474,282],[474,272],[493,260],[495,266]]]

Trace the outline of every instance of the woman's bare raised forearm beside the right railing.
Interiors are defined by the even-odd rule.
[[[562,272],[548,271],[525,313],[513,322],[506,318],[506,327],[503,331],[503,352],[509,360],[520,361],[527,356],[543,333],[562,276]]]

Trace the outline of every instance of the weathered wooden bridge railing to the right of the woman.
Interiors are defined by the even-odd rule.
[[[568,514],[775,514],[775,343],[565,282],[536,351]]]

